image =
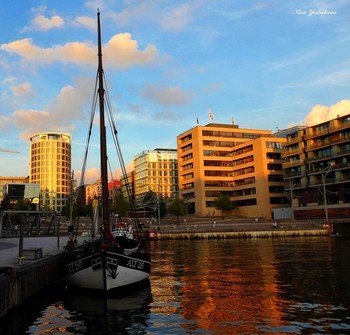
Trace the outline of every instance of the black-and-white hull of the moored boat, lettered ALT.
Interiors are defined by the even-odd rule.
[[[64,269],[71,285],[109,292],[147,281],[151,263],[146,253],[124,255],[102,250],[72,260],[64,266]]]

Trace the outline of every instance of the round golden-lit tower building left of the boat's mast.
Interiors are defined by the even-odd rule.
[[[60,212],[71,194],[71,135],[43,132],[30,141],[30,182],[40,184],[41,209]]]

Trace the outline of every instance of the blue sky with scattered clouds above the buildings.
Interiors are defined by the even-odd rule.
[[[45,131],[72,134],[79,174],[97,10],[128,166],[144,150],[176,148],[197,120],[276,131],[350,113],[350,0],[3,1],[0,148],[19,153],[0,152],[0,176],[29,175],[29,138]],[[93,128],[87,178],[96,180]]]

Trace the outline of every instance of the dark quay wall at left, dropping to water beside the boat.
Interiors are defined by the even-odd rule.
[[[33,294],[52,284],[60,274],[62,254],[16,267],[2,268],[0,273],[0,318]]]

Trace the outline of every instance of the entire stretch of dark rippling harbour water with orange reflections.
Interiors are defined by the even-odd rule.
[[[152,242],[150,287],[51,289],[0,334],[350,334],[350,239]]]

